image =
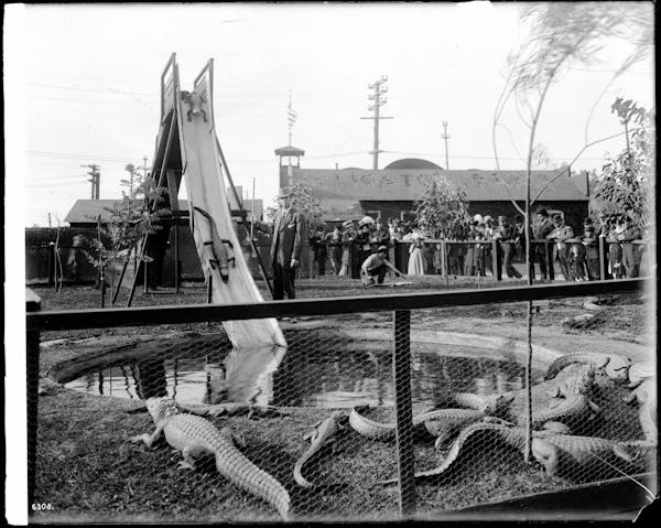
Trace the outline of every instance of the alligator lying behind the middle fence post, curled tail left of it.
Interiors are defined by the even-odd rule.
[[[413,427],[424,429],[434,437],[448,440],[469,423],[481,420],[485,417],[502,417],[507,414],[512,402],[511,396],[499,396],[484,400],[476,409],[432,409],[413,417]],[[395,424],[382,423],[361,416],[356,408],[349,413],[349,423],[361,435],[375,440],[387,440],[394,438]]]

